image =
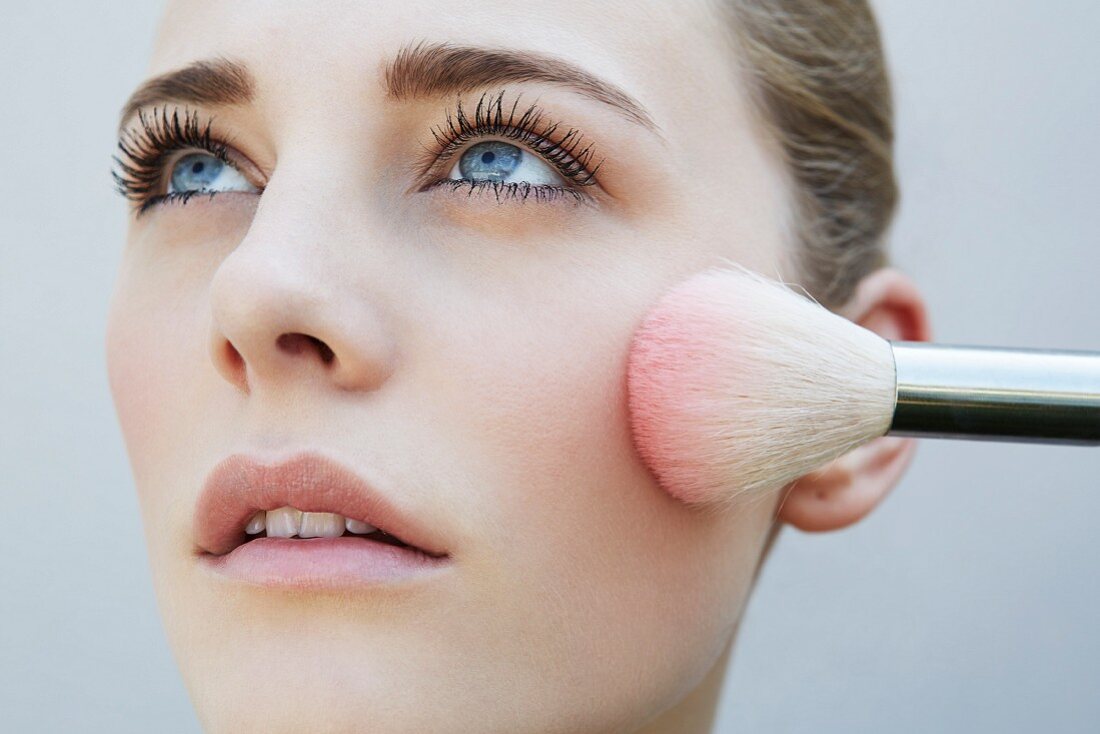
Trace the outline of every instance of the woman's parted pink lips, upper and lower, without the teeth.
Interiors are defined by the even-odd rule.
[[[245,535],[244,526],[256,511],[287,505],[370,523],[409,547],[364,537],[250,539]],[[243,453],[227,457],[207,476],[193,528],[200,563],[263,587],[393,583],[450,562],[414,514],[351,469],[310,452],[279,462]]]

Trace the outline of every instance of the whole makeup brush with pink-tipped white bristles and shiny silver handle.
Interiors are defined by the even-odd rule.
[[[635,446],[689,504],[760,494],[878,436],[1100,445],[1100,353],[888,341],[739,265],[630,347]]]

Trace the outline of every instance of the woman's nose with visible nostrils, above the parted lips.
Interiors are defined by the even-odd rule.
[[[244,393],[307,381],[371,391],[393,370],[371,294],[321,249],[253,230],[218,267],[210,299],[210,357]]]

